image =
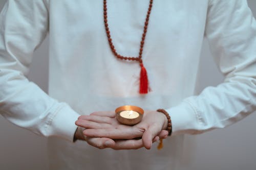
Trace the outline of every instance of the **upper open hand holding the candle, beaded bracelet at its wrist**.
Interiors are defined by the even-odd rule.
[[[94,112],[91,115],[82,115],[76,121],[76,125],[87,128],[83,134],[89,139],[96,140],[101,137],[129,139],[115,140],[114,147],[111,147],[113,149],[138,149],[143,146],[150,149],[152,142],[159,138],[166,138],[168,135],[168,132],[163,130],[167,127],[167,118],[157,111],[145,111],[142,121],[134,126],[120,124],[115,118],[115,112]],[[142,139],[134,139],[140,137]]]

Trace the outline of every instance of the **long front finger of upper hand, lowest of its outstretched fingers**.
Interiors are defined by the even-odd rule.
[[[111,139],[133,139],[141,137],[143,132],[130,126],[120,125],[109,129],[86,129],[83,134],[89,137],[107,137]]]

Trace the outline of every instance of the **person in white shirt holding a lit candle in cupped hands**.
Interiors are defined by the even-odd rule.
[[[1,12],[0,112],[49,137],[51,169],[181,169],[184,134],[226,127],[255,110],[256,22],[246,1],[154,1],[143,65],[119,58],[138,56],[148,1],[107,2],[111,40],[103,2],[9,0]],[[46,94],[25,76],[48,33]],[[225,81],[194,95],[204,37]],[[140,94],[144,68],[151,91]],[[127,104],[145,110],[140,124],[121,127],[113,118]],[[171,137],[159,108],[171,116]],[[73,142],[74,134],[83,140]],[[152,147],[159,138],[166,138],[160,151]]]

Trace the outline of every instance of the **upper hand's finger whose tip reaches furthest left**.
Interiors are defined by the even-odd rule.
[[[78,119],[76,120],[75,124],[77,126],[83,127],[83,128],[90,128],[90,129],[108,129],[111,128],[112,126],[110,124],[100,124],[100,123],[96,123],[96,122],[91,122],[88,120],[82,120],[82,119]]]

